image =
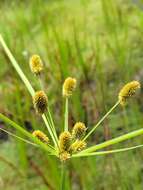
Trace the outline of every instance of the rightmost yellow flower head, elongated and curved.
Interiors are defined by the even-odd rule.
[[[121,105],[126,104],[126,100],[135,94],[135,91],[140,88],[140,83],[138,81],[132,81],[127,83],[119,92],[119,101]]]

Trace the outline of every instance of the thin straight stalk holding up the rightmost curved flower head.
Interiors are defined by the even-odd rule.
[[[84,141],[95,131],[95,129],[105,120],[105,118],[119,105],[119,101],[98,121],[98,123],[89,131],[89,133],[84,137]]]

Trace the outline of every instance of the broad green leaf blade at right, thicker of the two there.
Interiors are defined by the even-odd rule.
[[[119,142],[123,142],[125,140],[134,138],[134,137],[139,136],[139,135],[143,135],[143,129],[138,129],[138,130],[132,131],[130,133],[127,133],[125,135],[121,135],[119,137],[116,137],[116,138],[113,138],[111,140],[105,141],[103,143],[97,144],[95,146],[91,146],[91,147],[81,151],[80,154],[94,152],[96,150],[99,150],[99,149],[102,149],[102,148],[117,144]]]

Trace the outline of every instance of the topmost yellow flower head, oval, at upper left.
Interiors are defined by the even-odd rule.
[[[34,74],[40,74],[43,70],[43,63],[39,55],[33,55],[30,58],[30,68]]]

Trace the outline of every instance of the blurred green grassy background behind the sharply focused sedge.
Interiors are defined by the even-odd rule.
[[[133,0],[3,0],[0,33],[35,89],[29,57],[45,64],[43,83],[58,133],[63,125],[62,83],[77,78],[70,102],[70,127],[83,121],[90,129],[115,103],[126,82],[143,82],[143,3]],[[143,89],[123,109],[118,107],[90,138],[89,144],[143,126]],[[45,130],[32,99],[0,47],[0,112],[27,130]],[[0,127],[7,125],[0,122]],[[17,133],[16,131],[12,131]],[[111,148],[142,144],[143,138]],[[73,159],[67,190],[142,190],[142,149]],[[26,177],[19,174],[22,171]],[[0,189],[57,190],[60,163],[0,132]]]

